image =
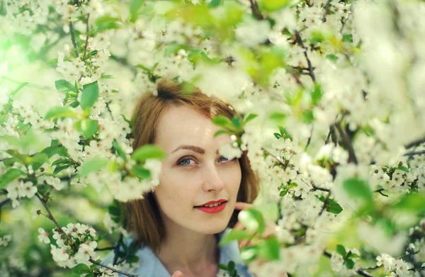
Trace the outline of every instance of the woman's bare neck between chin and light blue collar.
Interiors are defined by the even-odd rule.
[[[194,273],[218,264],[217,243],[214,234],[173,228],[172,232],[166,233],[157,256],[171,273],[177,269]]]

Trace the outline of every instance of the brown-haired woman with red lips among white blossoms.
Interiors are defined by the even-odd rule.
[[[140,276],[216,276],[218,264],[236,263],[249,277],[236,241],[217,243],[237,222],[239,210],[250,207],[259,189],[246,152],[229,160],[218,153],[229,135],[211,118],[237,113],[224,101],[199,90],[183,92],[180,84],[159,81],[158,94],[145,94],[133,115],[133,149],[162,147],[159,185],[145,199],[123,203],[127,228],[140,246]]]

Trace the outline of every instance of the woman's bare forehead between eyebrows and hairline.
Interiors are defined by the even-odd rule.
[[[195,145],[208,152],[208,147],[218,147],[221,142],[230,141],[229,135],[213,137],[217,130],[222,128],[195,109],[171,107],[159,119],[155,142],[169,153],[179,145]]]

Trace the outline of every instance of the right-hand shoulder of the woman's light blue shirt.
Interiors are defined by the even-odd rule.
[[[230,231],[232,231],[231,228],[226,228],[223,232],[219,233],[218,234],[219,242],[222,239],[222,237],[225,237],[225,235],[227,235]],[[254,274],[249,272],[248,267],[244,264],[244,261],[242,261],[237,240],[233,240],[232,242],[229,242],[228,244],[225,244],[222,247],[220,247],[219,263],[227,266],[229,261],[234,261],[234,266],[239,276],[254,277]]]

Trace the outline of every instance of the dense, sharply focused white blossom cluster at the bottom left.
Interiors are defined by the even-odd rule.
[[[89,259],[98,259],[98,255],[94,251],[97,247],[97,242],[94,241],[96,238],[96,230],[94,228],[80,223],[69,223],[67,227],[62,227],[62,230],[73,239],[73,242],[69,242],[67,237],[57,229],[52,230],[52,237],[55,239],[57,247],[54,244],[50,244],[50,252],[53,260],[59,266],[72,268],[77,264],[91,265]],[[44,242],[47,240],[46,234],[40,234],[40,237],[39,239],[43,239]],[[78,249],[76,250],[71,244],[77,242]]]

